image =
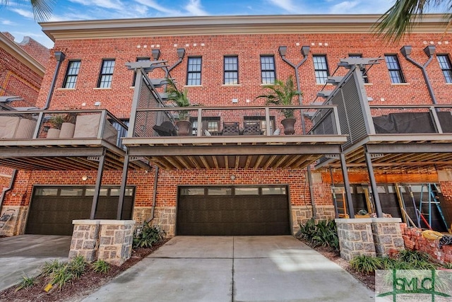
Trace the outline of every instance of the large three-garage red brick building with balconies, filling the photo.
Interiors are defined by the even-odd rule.
[[[57,57],[36,103],[48,110],[35,112],[28,139],[1,142],[0,164],[19,169],[2,209],[20,213],[11,233],[70,235],[73,219],[118,218],[168,236],[276,235],[313,215],[402,217],[400,207],[417,223],[412,202],[431,196],[444,219],[434,204],[430,223],[444,229],[452,35],[428,15],[389,44],[372,33],[378,18],[42,23]],[[196,105],[187,136],[166,76]],[[281,110],[256,97],[290,76],[303,95],[286,135]],[[69,136],[50,138],[55,115],[76,115]]]

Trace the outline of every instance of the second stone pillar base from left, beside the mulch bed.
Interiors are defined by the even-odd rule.
[[[98,259],[122,265],[132,253],[133,220],[101,220]]]

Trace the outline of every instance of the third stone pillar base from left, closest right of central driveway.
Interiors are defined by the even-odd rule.
[[[338,226],[340,257],[350,261],[359,255],[376,256],[371,219],[335,219]]]

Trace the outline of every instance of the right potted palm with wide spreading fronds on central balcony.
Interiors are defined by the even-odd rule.
[[[285,81],[275,80],[275,83],[272,85],[263,86],[264,88],[270,89],[272,92],[266,95],[258,95],[256,98],[266,98],[266,105],[278,105],[278,106],[290,106],[294,105],[292,103],[293,98],[296,95],[302,95],[301,91],[297,91],[294,86],[294,81],[292,76],[289,76],[289,79]],[[294,109],[281,109],[281,113],[283,113],[285,119],[281,121],[281,124],[284,126],[284,133],[286,135],[295,133],[295,118],[294,118]]]

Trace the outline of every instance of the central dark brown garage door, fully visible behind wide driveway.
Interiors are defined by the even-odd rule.
[[[180,187],[177,235],[290,234],[287,187]]]

